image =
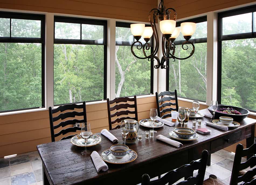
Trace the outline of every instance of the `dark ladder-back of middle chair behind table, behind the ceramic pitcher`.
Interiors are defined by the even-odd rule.
[[[121,104],[119,104],[121,102]],[[125,103],[126,102],[126,103]],[[132,102],[132,104],[128,104],[127,102]],[[112,106],[112,104],[114,104]],[[114,123],[120,123],[124,119],[135,119],[138,121],[138,111],[137,111],[137,98],[134,96],[133,98],[128,97],[120,97],[115,98],[113,100],[107,99],[107,106],[108,106],[108,123],[109,123],[109,130],[118,129],[120,128],[120,125],[117,125],[115,128],[112,128],[112,124]],[[128,108],[134,108],[134,111],[125,110],[125,111],[117,111],[119,109],[128,109]],[[117,111],[113,114],[111,114],[111,111]],[[134,114],[134,117],[119,117],[112,121],[111,118],[115,116],[122,116],[122,115],[128,115],[128,114]]]

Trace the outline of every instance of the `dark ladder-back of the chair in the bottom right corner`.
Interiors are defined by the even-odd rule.
[[[236,146],[236,154],[234,158],[230,184],[236,185],[239,182],[250,182],[253,177],[256,175],[256,143],[251,145],[250,148],[244,149],[242,144],[238,144]],[[251,156],[247,161],[241,162],[242,157]],[[239,173],[239,171],[244,170],[246,168],[252,168],[250,170],[246,170],[243,175]],[[254,168],[253,168],[254,167]],[[254,181],[255,182],[255,181]]]

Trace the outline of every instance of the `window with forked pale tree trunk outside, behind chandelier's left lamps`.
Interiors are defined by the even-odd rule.
[[[143,38],[140,41],[145,43]],[[133,42],[130,23],[116,22],[116,97],[153,93],[153,61],[133,56],[131,52]],[[153,37],[149,42],[151,47],[146,51],[147,55],[153,51]],[[134,47],[134,52],[144,57],[142,49],[138,50]]]

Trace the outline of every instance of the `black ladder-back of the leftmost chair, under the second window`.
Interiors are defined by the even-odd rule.
[[[55,114],[59,111],[63,112],[63,111],[74,110],[74,109],[82,109],[82,110],[81,110],[81,112],[72,111],[72,112],[60,113],[59,115],[53,117],[53,114]],[[59,119],[63,120],[66,118],[75,118],[75,116],[83,116],[83,119],[81,119],[81,120],[78,120],[78,119],[66,120],[66,121],[58,123],[57,125],[54,125],[54,122],[58,121]],[[61,134],[64,135],[69,132],[76,132],[77,130],[81,130],[81,127],[75,126],[75,127],[68,127],[67,129],[62,129],[56,134],[54,133],[54,129],[57,129],[59,127],[65,127],[67,125],[74,125],[75,123],[87,122],[85,102],[83,102],[83,104],[81,104],[81,105],[77,105],[77,104],[62,105],[56,109],[52,109],[51,107],[49,107],[49,118],[50,118],[50,129],[51,129],[51,141],[54,142],[55,137],[60,136]],[[75,135],[76,134],[70,135],[67,137],[63,137],[63,138],[61,138],[61,140],[69,139]]]

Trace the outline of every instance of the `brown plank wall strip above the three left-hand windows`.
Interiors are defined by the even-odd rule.
[[[2,0],[0,8],[148,22],[148,12],[157,8],[157,0]]]

